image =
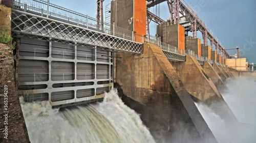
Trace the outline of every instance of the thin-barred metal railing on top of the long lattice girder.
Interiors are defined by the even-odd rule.
[[[143,39],[142,37],[144,37],[143,35],[136,34],[133,31],[115,26],[115,24],[111,25],[110,23],[97,20],[96,18],[88,15],[51,4],[47,0],[14,0],[13,9],[82,26],[131,41],[136,41],[135,37],[141,37],[140,39]],[[143,43],[142,41],[136,42]]]

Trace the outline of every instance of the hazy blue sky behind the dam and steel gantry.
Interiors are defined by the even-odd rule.
[[[256,1],[255,0],[184,0],[195,9],[200,19],[206,23],[209,30],[214,33],[224,48],[240,47],[242,58],[248,63],[256,64]],[[96,0],[50,0],[50,3],[96,18]],[[111,0],[103,2],[105,6]],[[156,7],[151,8],[155,11]],[[160,17],[164,20],[170,17],[166,2],[160,4]],[[156,31],[156,24],[151,23],[151,35]],[[190,35],[190,34],[189,34]],[[201,32],[197,33],[202,40]],[[210,44],[208,42],[208,44]],[[230,55],[236,50],[228,50]]]

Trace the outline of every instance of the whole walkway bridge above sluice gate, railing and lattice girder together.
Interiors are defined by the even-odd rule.
[[[111,27],[111,28],[110,28]],[[132,31],[41,0],[13,2],[12,33],[28,37],[120,51],[142,53],[142,41]]]

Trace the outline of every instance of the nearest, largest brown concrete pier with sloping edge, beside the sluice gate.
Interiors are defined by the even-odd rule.
[[[150,106],[148,108],[152,110],[146,108],[140,112],[142,120],[143,117],[151,119],[145,122],[147,127],[156,131],[156,127],[168,120],[184,122],[201,138],[217,142],[162,50],[153,44],[144,44],[143,47],[143,54],[118,54],[122,58],[116,61],[115,82],[125,96]],[[175,124],[172,122],[170,126]]]

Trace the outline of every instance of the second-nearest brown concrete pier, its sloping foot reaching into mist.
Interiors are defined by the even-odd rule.
[[[172,62],[172,65],[179,74],[186,90],[193,96],[194,101],[214,105],[212,108],[225,119],[225,122],[238,122],[208,73],[203,70],[193,56],[187,55],[186,62]]]

